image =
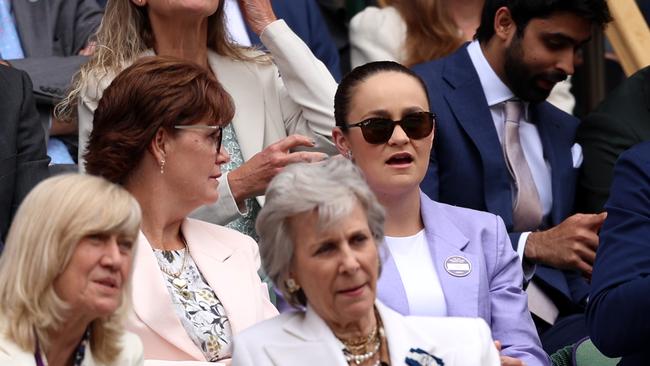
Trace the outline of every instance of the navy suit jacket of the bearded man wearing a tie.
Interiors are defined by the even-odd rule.
[[[431,111],[437,115],[434,148],[422,190],[439,202],[501,216],[516,250],[521,233],[512,231],[510,173],[467,46],[413,70],[425,81]],[[571,147],[579,121],[547,102],[531,104],[529,119],[537,125],[544,158],[551,166],[553,206],[544,226],[554,226],[573,208],[577,171]],[[582,303],[589,291],[574,272],[537,266],[536,276],[568,301],[558,303],[560,299],[554,297],[560,309]]]

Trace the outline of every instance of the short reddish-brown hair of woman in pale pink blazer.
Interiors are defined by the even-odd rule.
[[[124,184],[160,128],[232,120],[230,95],[204,68],[174,57],[143,57],[106,88],[93,120],[86,170]]]

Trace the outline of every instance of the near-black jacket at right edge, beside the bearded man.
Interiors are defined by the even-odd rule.
[[[576,211],[601,212],[619,155],[650,141],[650,66],[611,92],[580,124],[577,139],[585,161],[578,176]]]

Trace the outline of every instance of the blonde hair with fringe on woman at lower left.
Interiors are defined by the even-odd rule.
[[[38,184],[18,208],[0,257],[5,336],[27,351],[34,350],[36,339],[47,349],[48,337],[70,310],[56,294],[54,281],[79,241],[98,233],[117,233],[135,241],[140,219],[137,201],[103,178],[67,174]],[[91,323],[90,349],[99,362],[110,363],[119,354],[129,293],[130,280],[115,314]]]

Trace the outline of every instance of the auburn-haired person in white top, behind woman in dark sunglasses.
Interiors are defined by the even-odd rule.
[[[474,39],[484,0],[380,0],[350,22],[352,67],[390,60],[406,66],[438,59]],[[569,79],[548,101],[571,114],[575,98]]]

